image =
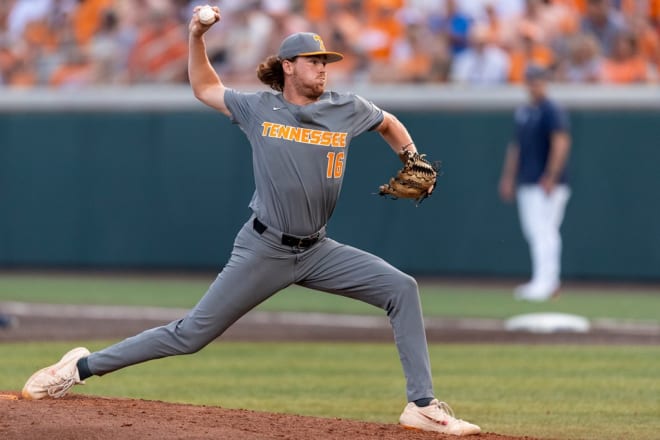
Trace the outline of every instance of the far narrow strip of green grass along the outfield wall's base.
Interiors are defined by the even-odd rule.
[[[214,276],[140,277],[26,275],[0,273],[0,301],[73,304],[193,306]],[[575,313],[590,319],[660,322],[660,289],[565,288],[559,301],[531,304],[515,301],[511,288],[451,283],[421,284],[427,316],[507,318],[536,311]],[[382,314],[346,298],[290,287],[259,307],[270,311]]]

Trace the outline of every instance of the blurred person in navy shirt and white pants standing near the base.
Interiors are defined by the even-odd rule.
[[[522,231],[530,248],[531,280],[518,286],[515,296],[545,301],[560,286],[560,226],[570,198],[566,164],[571,149],[567,112],[547,93],[549,72],[532,65],[525,72],[529,102],[514,113],[515,136],[510,142],[500,196],[518,204]]]

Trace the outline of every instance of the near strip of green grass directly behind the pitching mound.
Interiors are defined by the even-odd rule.
[[[0,389],[19,389],[71,346],[0,344]],[[431,359],[438,396],[485,431],[658,438],[658,347],[433,345]],[[405,404],[391,344],[216,343],[91,378],[75,392],[386,423]]]

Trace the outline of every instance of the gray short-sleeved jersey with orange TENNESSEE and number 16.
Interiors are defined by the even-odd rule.
[[[250,208],[280,231],[309,235],[332,214],[351,140],[383,120],[383,111],[350,93],[325,92],[298,106],[281,93],[225,92],[232,121],[252,145]]]

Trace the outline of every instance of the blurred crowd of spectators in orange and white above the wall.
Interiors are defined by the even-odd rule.
[[[530,63],[570,83],[660,71],[660,0],[0,0],[0,87],[185,83],[188,22],[207,3],[228,83],[256,82],[297,31],[345,55],[333,82],[518,83]]]

